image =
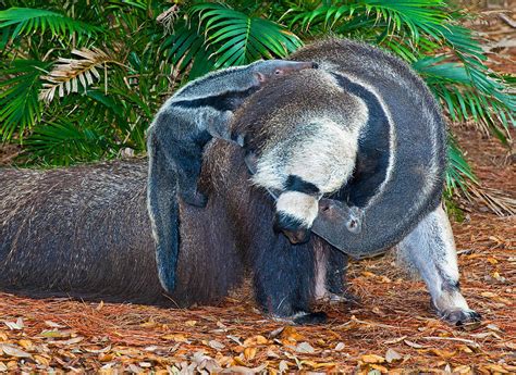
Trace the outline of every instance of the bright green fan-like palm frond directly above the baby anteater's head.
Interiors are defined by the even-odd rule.
[[[302,46],[300,39],[279,24],[217,3],[204,3],[191,9],[198,18],[206,45],[214,52],[214,67],[242,65],[260,58],[284,58]]]

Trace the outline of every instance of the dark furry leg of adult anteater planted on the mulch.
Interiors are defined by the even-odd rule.
[[[261,243],[254,264],[258,303],[272,317],[296,324],[323,323],[323,312],[314,313],[316,259],[311,247],[291,245],[283,235]]]

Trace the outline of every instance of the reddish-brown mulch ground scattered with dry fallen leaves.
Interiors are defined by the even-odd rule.
[[[508,55],[493,59],[507,72]],[[454,133],[483,184],[516,198],[514,154],[471,127]],[[0,164],[16,151],[0,150]],[[330,315],[322,326],[267,320],[248,286],[218,307],[191,310],[0,293],[0,373],[515,374],[516,217],[499,217],[478,202],[460,205],[465,218],[453,224],[460,284],[481,324],[456,328],[437,318],[423,284],[406,278],[392,255],[351,264],[360,301],[322,303]]]

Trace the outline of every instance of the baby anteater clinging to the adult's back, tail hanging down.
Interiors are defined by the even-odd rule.
[[[195,207],[207,201],[197,191],[205,146],[212,137],[241,141],[229,124],[244,99],[268,80],[311,67],[310,62],[270,60],[214,72],[184,86],[157,113],[147,136],[148,211],[159,278],[169,292],[175,288],[180,249],[177,197]]]

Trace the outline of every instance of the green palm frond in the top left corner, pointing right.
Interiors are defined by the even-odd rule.
[[[101,30],[100,27],[71,18],[64,14],[44,9],[10,8],[0,11],[0,29],[11,27],[10,37],[32,33],[45,34],[47,30],[52,37],[67,37],[72,33],[93,36]]]

